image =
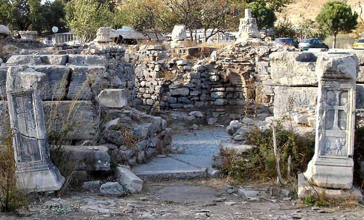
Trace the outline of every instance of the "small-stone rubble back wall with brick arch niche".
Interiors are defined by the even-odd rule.
[[[270,79],[269,54],[278,49],[239,43],[214,52],[210,48],[210,57],[193,59],[189,50],[172,58],[176,49],[140,47],[127,55],[136,63],[136,102],[161,109],[201,110],[211,124],[245,115],[264,118],[273,114],[274,89],[265,81]]]

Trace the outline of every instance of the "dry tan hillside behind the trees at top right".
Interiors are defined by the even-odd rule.
[[[287,5],[281,13],[277,13],[278,20],[286,17],[293,24],[298,24],[303,18],[315,19],[321,9],[321,6],[331,0],[294,0],[293,3]],[[361,21],[364,19],[363,8],[364,3],[359,0],[344,0],[360,15]]]

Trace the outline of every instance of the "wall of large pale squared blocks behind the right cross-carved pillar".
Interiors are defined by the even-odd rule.
[[[274,115],[284,115],[294,109],[315,109],[317,103],[317,75],[315,66],[317,57],[330,53],[353,53],[358,57],[359,73],[357,77],[356,107],[364,106],[364,52],[287,52],[272,53],[269,73],[275,88]]]

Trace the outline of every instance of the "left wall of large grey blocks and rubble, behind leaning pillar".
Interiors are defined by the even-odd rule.
[[[41,97],[50,142],[64,138],[66,145],[105,146],[113,162],[127,165],[145,162],[156,153],[168,152],[171,139],[167,121],[129,107],[134,104],[135,73],[134,64],[125,61],[125,49],[88,48],[77,53],[82,55],[10,57],[0,67],[2,112],[7,112],[7,69],[24,65],[46,73]],[[129,105],[104,106],[98,95],[107,89],[126,91],[119,94],[125,94],[121,98],[127,99],[123,102]],[[6,114],[1,118],[6,122]],[[5,126],[2,125],[0,131],[4,134]]]

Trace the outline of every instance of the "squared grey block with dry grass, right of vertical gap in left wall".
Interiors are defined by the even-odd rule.
[[[73,69],[67,98],[71,100],[91,100],[99,93],[100,82],[105,74],[104,67],[78,67]]]

